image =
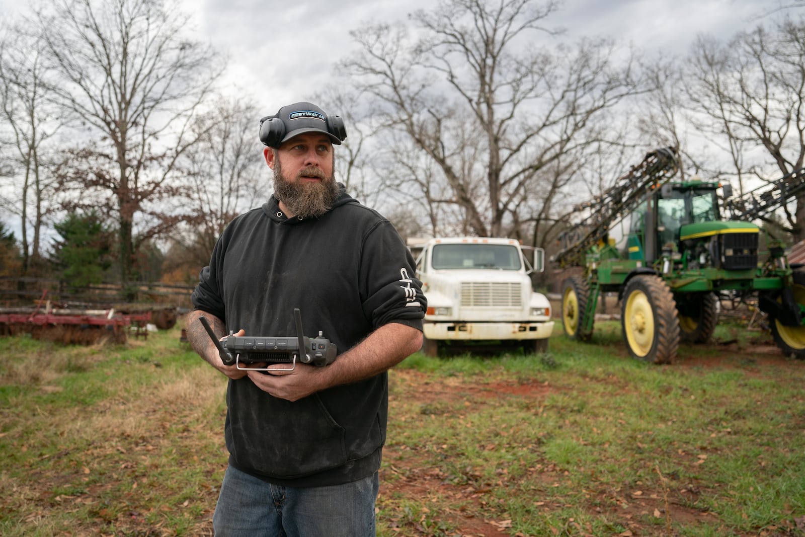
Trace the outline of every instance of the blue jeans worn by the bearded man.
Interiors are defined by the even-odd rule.
[[[374,537],[378,473],[345,485],[271,485],[229,466],[221,484],[215,537]]]

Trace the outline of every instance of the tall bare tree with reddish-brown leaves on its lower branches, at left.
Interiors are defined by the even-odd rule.
[[[124,283],[138,246],[183,218],[177,163],[204,134],[192,118],[220,74],[213,51],[185,37],[189,20],[171,0],[54,0],[36,13],[61,105],[93,140],[68,176],[89,174],[85,202],[114,200]]]

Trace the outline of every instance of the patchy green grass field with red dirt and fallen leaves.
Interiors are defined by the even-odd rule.
[[[0,535],[212,535],[226,381],[180,326],[0,339]],[[672,366],[614,322],[541,356],[415,354],[390,372],[378,535],[805,535],[803,379],[740,325]]]

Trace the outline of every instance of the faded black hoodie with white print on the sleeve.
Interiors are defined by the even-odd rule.
[[[341,185],[340,185],[341,186]],[[341,192],[328,213],[288,219],[272,197],[235,218],[193,291],[196,309],[227,331],[324,337],[344,353],[388,323],[422,329],[426,301],[414,261],[386,218]],[[313,366],[303,366],[313,367]],[[388,378],[277,399],[246,377],[226,396],[229,464],[277,485],[338,485],[380,467]]]

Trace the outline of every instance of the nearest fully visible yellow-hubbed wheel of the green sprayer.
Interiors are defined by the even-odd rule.
[[[626,283],[621,300],[623,340],[632,356],[670,364],[679,349],[679,319],[674,295],[655,275],[638,275]]]

